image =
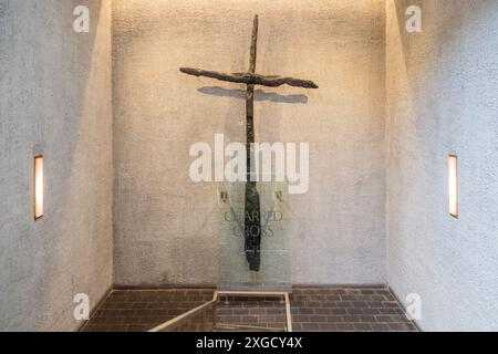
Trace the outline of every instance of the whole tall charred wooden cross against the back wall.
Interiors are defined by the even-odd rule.
[[[247,73],[221,73],[216,71],[205,71],[199,69],[181,67],[180,71],[188,75],[206,76],[219,81],[241,83],[247,85],[246,111],[247,111],[247,183],[245,200],[245,251],[251,271],[259,272],[261,259],[261,211],[259,192],[256,186],[256,171],[252,162],[255,160],[255,86],[278,87],[290,85],[304,88],[318,88],[318,85],[309,80],[293,77],[264,76],[256,73],[256,59],[258,45],[258,15],[255,18],[251,39],[251,59],[249,72]]]

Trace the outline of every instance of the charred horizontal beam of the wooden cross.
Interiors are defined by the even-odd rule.
[[[235,82],[247,85],[260,85],[269,87],[278,87],[289,85],[294,87],[318,88],[319,86],[310,80],[300,80],[294,77],[264,76],[252,73],[222,73],[217,71],[206,71],[200,69],[181,67],[180,71],[193,76],[211,77],[219,81]]]

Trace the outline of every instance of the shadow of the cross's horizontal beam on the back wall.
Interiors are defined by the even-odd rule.
[[[230,97],[246,100],[246,90],[228,90],[219,86],[205,86],[197,88],[198,92],[217,97]],[[278,93],[256,90],[255,101],[269,101],[274,103],[308,104],[307,95],[280,95]]]

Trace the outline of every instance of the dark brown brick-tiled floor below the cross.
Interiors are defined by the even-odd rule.
[[[147,331],[212,299],[212,290],[114,291],[82,331]],[[417,331],[386,289],[298,288],[291,295],[294,331]],[[283,329],[278,299],[221,299],[218,323]],[[196,326],[187,330],[195,330]]]

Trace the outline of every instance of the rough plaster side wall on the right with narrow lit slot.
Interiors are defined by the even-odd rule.
[[[427,331],[498,330],[498,2],[387,1],[388,279]],[[459,219],[447,158],[459,156]]]

